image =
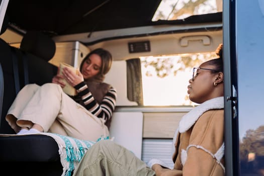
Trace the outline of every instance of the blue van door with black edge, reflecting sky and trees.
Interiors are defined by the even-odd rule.
[[[223,1],[226,175],[264,175],[264,1]]]

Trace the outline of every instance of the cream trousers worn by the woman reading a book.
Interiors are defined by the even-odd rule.
[[[17,95],[6,120],[18,132],[21,127],[40,125],[44,132],[96,141],[109,135],[104,120],[87,111],[66,95],[60,85],[28,84]]]

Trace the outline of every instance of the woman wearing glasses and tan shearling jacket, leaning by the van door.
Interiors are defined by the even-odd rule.
[[[191,101],[200,104],[180,121],[173,137],[173,168],[159,159],[147,164],[110,140],[94,144],[74,171],[80,175],[224,175],[224,85],[219,58],[202,63],[189,80]]]

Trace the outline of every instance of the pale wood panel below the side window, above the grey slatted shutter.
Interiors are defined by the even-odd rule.
[[[186,113],[144,113],[143,138],[173,138],[181,118]]]

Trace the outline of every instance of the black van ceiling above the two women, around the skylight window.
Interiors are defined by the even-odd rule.
[[[152,22],[160,1],[10,0],[7,15],[10,28],[22,35],[28,30],[58,36],[157,24],[188,23],[188,20]],[[208,19],[212,22],[222,21],[222,13],[210,15],[209,18],[200,15],[198,19],[190,20],[190,23],[208,22]]]

